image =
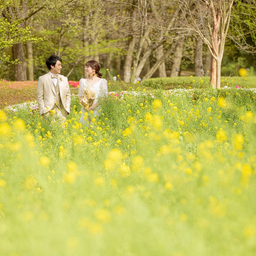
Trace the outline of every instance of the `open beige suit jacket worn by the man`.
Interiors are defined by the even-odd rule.
[[[71,93],[69,89],[69,82],[66,76],[59,75],[59,93],[62,100],[63,107],[70,113]],[[56,102],[55,85],[52,82],[50,73],[47,73],[38,78],[36,99],[40,115],[50,111]]]

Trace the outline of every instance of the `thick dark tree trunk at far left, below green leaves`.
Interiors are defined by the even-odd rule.
[[[20,64],[14,65],[14,80],[15,81],[26,81],[26,58],[23,50],[23,44],[19,43],[12,46],[13,59],[18,59]]]

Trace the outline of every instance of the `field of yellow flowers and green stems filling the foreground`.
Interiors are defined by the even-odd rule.
[[[253,256],[256,92],[112,92],[61,128],[0,111],[0,255]]]

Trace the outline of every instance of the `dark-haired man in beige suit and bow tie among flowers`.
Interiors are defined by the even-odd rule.
[[[51,55],[46,59],[49,72],[38,78],[36,99],[40,114],[55,121],[66,121],[70,113],[71,93],[68,78],[60,75],[62,59]]]

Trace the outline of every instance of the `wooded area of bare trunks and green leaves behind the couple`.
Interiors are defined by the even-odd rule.
[[[125,82],[209,71],[214,88],[256,64],[256,0],[0,0],[0,13],[6,80],[36,80],[51,54],[70,80],[95,59]]]

